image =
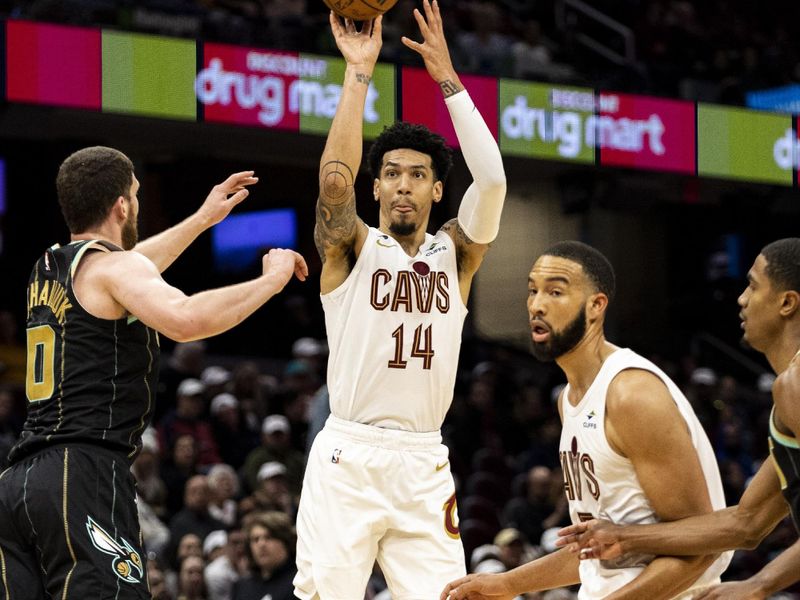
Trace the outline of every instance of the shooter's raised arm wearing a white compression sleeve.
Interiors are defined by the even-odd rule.
[[[414,9],[423,42],[404,37],[403,43],[422,56],[431,78],[439,84],[450,111],[461,152],[472,174],[458,211],[458,219],[443,229],[455,240],[459,256],[462,296],[497,236],[506,195],[506,177],[500,148],[453,68],[444,35],[439,3],[423,2],[425,16]]]

